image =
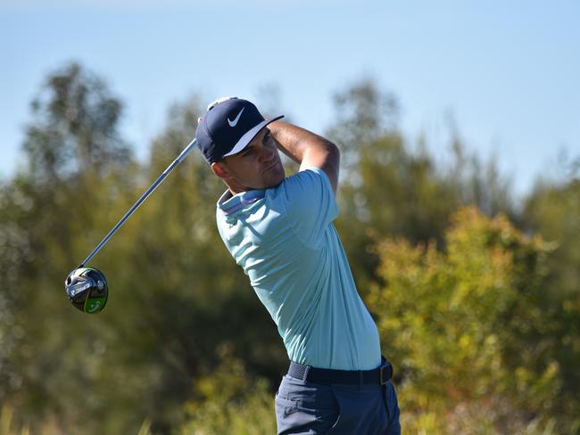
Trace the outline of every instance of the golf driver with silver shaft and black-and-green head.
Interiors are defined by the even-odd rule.
[[[117,225],[112,227],[112,230],[104,236],[104,239],[96,245],[95,249],[88,254],[87,258],[80,263],[79,267],[74,269],[67,276],[64,282],[64,288],[70,302],[76,308],[89,314],[95,314],[103,310],[109,296],[107,280],[104,277],[103,272],[94,267],[86,267],[87,263],[95,257],[96,253],[101,250],[109,240],[111,240],[112,236],[117,233],[119,228],[127,221],[135,210],[137,210],[147,197],[153,193],[157,186],[161,185],[163,180],[170,175],[170,172],[178,167],[178,164],[186,158],[187,153],[194,148],[195,144],[196,142],[194,139],[184,148],[184,150],[178,155],[178,158],[171,162],[170,166],[162,172],[162,175],[153,182],[153,185],[151,185],[145,193],[141,195],[137,202],[128,209],[125,216],[120,218]]]

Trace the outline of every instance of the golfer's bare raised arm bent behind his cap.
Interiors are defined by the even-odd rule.
[[[335,144],[287,122],[274,121],[268,127],[281,152],[299,163],[301,169],[321,168],[327,174],[336,194],[340,152]]]

